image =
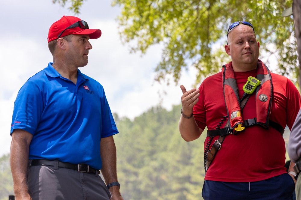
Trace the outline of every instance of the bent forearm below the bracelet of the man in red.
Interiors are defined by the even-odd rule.
[[[187,119],[184,118],[183,115],[181,115],[179,121],[179,131],[182,138],[187,142],[198,139],[203,132],[203,130],[197,126],[193,116]]]

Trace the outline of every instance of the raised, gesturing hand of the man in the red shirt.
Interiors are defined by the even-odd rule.
[[[200,90],[193,88],[191,90],[186,91],[184,85],[180,85],[182,89],[183,95],[181,97],[182,103],[182,113],[185,117],[191,116],[193,112],[193,106],[197,104],[200,96]]]

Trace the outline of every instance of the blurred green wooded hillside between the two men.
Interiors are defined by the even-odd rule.
[[[185,142],[178,131],[181,106],[151,108],[117,124],[118,177],[124,199],[202,199],[202,139]]]

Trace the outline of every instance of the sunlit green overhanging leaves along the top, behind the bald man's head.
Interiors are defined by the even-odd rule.
[[[53,0],[62,5],[68,0]],[[83,0],[69,0],[79,13]],[[223,46],[228,25],[247,20],[254,25],[261,52],[276,55],[278,73],[296,82],[298,62],[293,19],[281,13],[292,0],[112,0],[120,6],[120,35],[125,43],[135,41],[132,52],[145,53],[154,44],[163,44],[156,80],[172,75],[178,82],[181,70],[193,66],[197,82],[216,73],[230,61]],[[213,48],[216,43],[221,46]],[[167,80],[169,81],[169,80]]]

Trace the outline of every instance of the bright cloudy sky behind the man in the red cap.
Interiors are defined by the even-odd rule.
[[[9,152],[11,116],[20,87],[35,73],[47,67],[52,56],[47,47],[51,24],[63,15],[74,15],[68,5],[61,7],[52,0],[9,0],[0,2],[2,27],[0,31],[0,156]],[[145,55],[130,54],[129,45],[122,45],[116,17],[119,7],[111,2],[87,0],[78,17],[90,28],[99,28],[102,35],[90,40],[89,63],[82,73],[96,79],[105,89],[112,112],[120,117],[135,118],[160,103],[158,93],[166,91],[162,106],[171,109],[181,103],[179,85],[159,85],[154,82],[154,69],[160,61],[162,46],[148,49]],[[182,73],[179,84],[191,88],[195,72]],[[180,113],[179,113],[180,117]]]

